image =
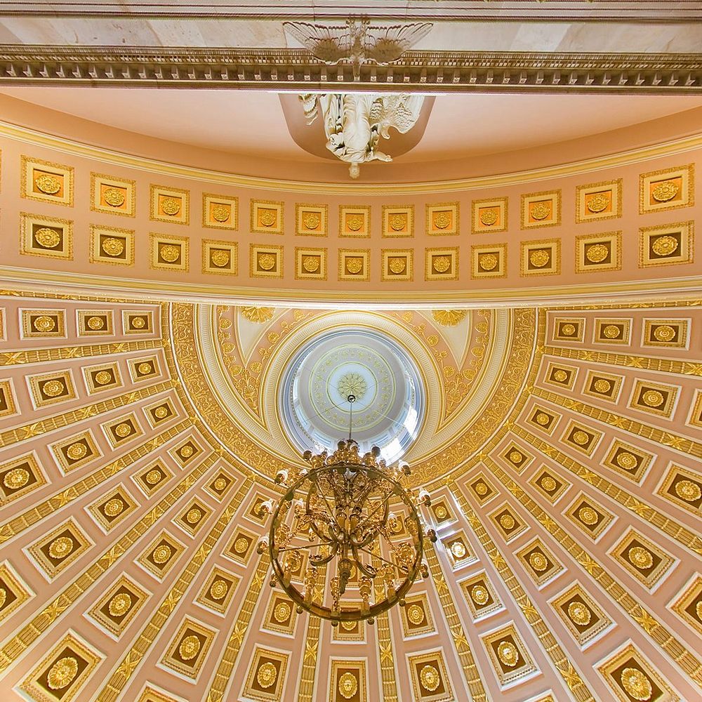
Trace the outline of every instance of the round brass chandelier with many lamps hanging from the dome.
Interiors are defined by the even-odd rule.
[[[280,470],[276,482],[285,494],[260,507],[271,515],[267,541],[258,545],[270,555],[270,585],[286,592],[298,614],[307,611],[333,626],[373,623],[395,604],[404,606],[418,575],[428,576],[424,539],[437,539],[421,513],[430,506],[428,492],[413,496],[402,486],[409,466],[385,465],[378,446],[360,453],[351,437],[355,399],[347,397],[349,438],[332,453],[305,451],[303,468]]]

